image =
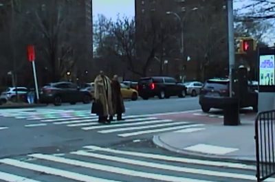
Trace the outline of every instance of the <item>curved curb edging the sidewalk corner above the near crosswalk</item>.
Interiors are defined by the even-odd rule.
[[[243,157],[228,157],[228,156],[225,157],[225,156],[221,156],[221,155],[208,155],[208,154],[203,154],[200,152],[190,152],[188,150],[175,148],[173,146],[169,146],[164,141],[162,141],[162,139],[160,139],[159,135],[154,135],[152,140],[153,140],[153,144],[155,144],[155,146],[164,148],[165,150],[169,150],[171,152],[176,152],[181,155],[187,155],[189,157],[196,157],[199,159],[206,159],[206,160],[214,159],[217,161],[221,161],[221,159],[223,159],[223,161],[228,161],[228,162],[256,163],[255,159],[243,159]]]

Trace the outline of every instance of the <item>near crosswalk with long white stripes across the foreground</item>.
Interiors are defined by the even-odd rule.
[[[256,181],[256,167],[244,163],[208,161],[84,146],[67,154],[34,153],[0,159],[2,181]],[[275,181],[267,179],[266,181]]]

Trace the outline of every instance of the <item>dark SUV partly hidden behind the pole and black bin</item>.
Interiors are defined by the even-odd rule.
[[[219,98],[229,97],[228,79],[210,79],[205,82],[199,95],[199,104],[203,112],[207,113],[211,108],[223,109],[224,105]],[[245,98],[240,98],[240,107],[252,106],[254,111],[258,110],[258,93],[248,89]]]

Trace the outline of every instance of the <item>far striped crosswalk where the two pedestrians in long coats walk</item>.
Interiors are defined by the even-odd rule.
[[[111,124],[99,124],[98,117],[89,111],[56,110],[56,109],[18,109],[0,111],[2,117],[13,117],[27,120],[25,128],[49,125],[65,125],[81,130],[95,130],[97,133],[113,133],[118,137],[134,137],[166,131],[191,133],[203,130],[203,124],[162,120],[155,115],[124,115],[125,121],[113,121]],[[115,119],[115,118],[114,118]]]

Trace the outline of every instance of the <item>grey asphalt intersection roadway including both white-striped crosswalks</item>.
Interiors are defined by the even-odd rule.
[[[126,101],[125,106],[126,121],[109,125],[96,122],[91,104],[1,110],[0,179],[254,181],[254,166],[190,160],[152,144],[157,133],[196,127],[155,114],[197,110],[198,98]]]

